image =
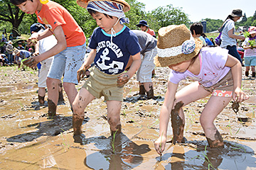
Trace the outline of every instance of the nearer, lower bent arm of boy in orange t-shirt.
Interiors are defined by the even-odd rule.
[[[28,67],[33,67],[38,64],[38,62],[46,60],[47,58],[57,55],[59,52],[65,50],[67,47],[67,42],[65,40],[63,28],[61,26],[57,26],[54,30],[54,35],[58,41],[55,46],[53,46],[50,50],[43,52],[41,55],[30,57],[28,60],[24,61],[23,64]]]

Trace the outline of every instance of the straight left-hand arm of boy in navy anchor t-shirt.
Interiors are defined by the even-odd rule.
[[[85,62],[82,64],[82,66],[80,67],[80,69],[78,69],[78,82],[80,81],[80,79],[82,79],[82,77],[85,77],[85,72],[87,69],[90,68],[90,64],[92,64],[93,60],[95,59],[96,56],[96,49],[92,49],[88,55],[88,57],[85,59]]]

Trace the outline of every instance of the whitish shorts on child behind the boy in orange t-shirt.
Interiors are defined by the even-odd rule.
[[[40,69],[39,78],[38,78],[38,87],[46,88],[46,78],[47,78],[47,74],[49,72],[50,64],[52,60],[53,60],[53,57],[50,57],[41,62],[41,69]]]

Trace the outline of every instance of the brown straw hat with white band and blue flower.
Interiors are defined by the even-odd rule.
[[[158,33],[158,55],[154,57],[156,67],[167,67],[191,60],[203,47],[203,42],[199,38],[193,38],[184,24],[160,28]]]

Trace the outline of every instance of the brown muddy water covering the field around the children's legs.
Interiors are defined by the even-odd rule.
[[[102,99],[90,103],[82,123],[86,145],[79,145],[73,142],[72,112],[65,94],[58,118],[48,120],[46,106],[34,104],[37,73],[1,68],[0,169],[256,169],[255,79],[243,79],[250,100],[240,105],[238,113],[230,103],[215,120],[225,143],[223,149],[210,149],[203,135],[199,116],[208,100],[203,98],[184,107],[186,143],[167,143],[163,155],[156,154],[153,142],[159,135],[168,72],[156,69],[155,100],[138,100],[135,77],[125,86],[123,133],[114,141],[106,120],[106,103]],[[183,81],[179,88],[189,83]],[[168,140],[171,137],[170,123]]]

